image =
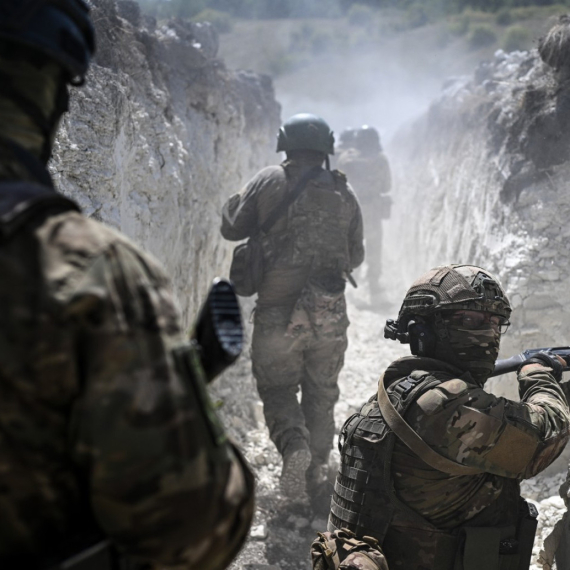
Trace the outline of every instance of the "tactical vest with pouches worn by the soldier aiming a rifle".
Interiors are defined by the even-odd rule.
[[[413,402],[439,384],[429,373],[416,371],[393,382],[388,394],[403,417]],[[518,483],[509,481],[499,499],[467,524],[452,531],[438,529],[396,495],[391,469],[396,438],[380,412],[377,396],[345,422],[328,530],[348,528],[357,537],[376,538],[390,568],[528,570],[538,513],[520,497]],[[512,513],[513,524],[485,525],[491,509]],[[428,560],[424,558],[423,564],[415,548],[421,543],[429,545],[430,551],[424,554]]]

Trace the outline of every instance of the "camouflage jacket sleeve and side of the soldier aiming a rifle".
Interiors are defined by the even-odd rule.
[[[568,403],[548,368],[519,374],[520,402],[489,394],[468,374],[432,359],[396,361],[386,371],[387,383],[413,370],[425,370],[426,380],[431,376],[442,383],[410,406],[408,424],[439,454],[481,469],[476,475],[441,473],[396,442],[396,491],[438,528],[472,519],[499,499],[507,480],[540,473],[568,442]]]

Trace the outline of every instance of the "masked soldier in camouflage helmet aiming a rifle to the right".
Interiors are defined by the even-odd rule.
[[[485,391],[510,314],[479,267],[437,267],[410,287],[385,333],[413,356],[344,424],[329,532],[375,538],[390,568],[529,568],[537,512],[519,482],[564,449],[570,411],[548,352],[521,365],[520,402]]]

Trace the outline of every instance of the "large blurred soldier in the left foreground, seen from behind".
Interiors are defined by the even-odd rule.
[[[202,395],[169,282],[46,170],[93,52],[81,0],[2,0],[0,567],[221,570],[252,477]]]

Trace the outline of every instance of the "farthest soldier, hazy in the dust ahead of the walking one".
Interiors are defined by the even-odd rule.
[[[370,302],[384,299],[380,287],[382,273],[382,222],[390,217],[392,186],[390,165],[382,151],[378,131],[362,126],[341,134],[338,168],[344,172],[362,205],[366,240],[367,281]]]

